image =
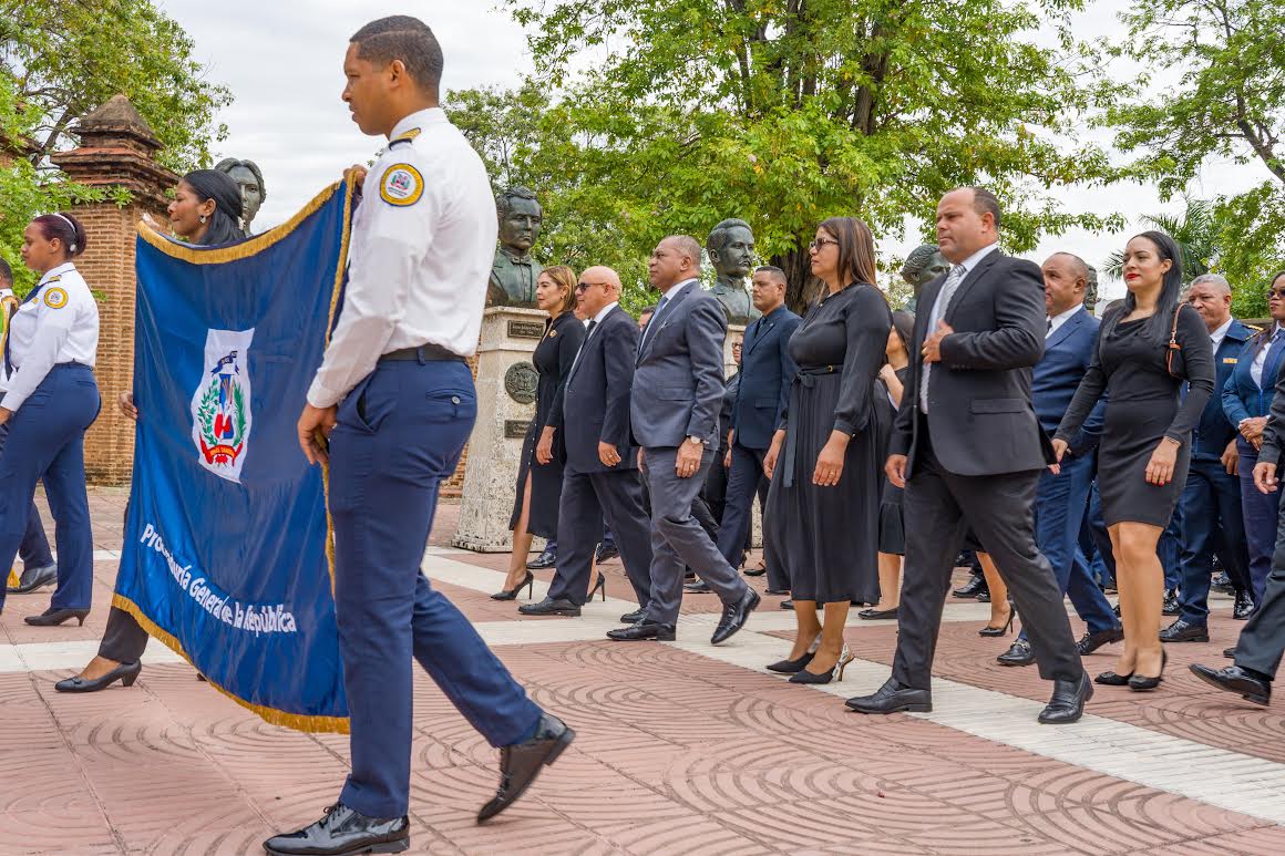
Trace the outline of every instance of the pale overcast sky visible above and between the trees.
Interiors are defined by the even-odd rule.
[[[159,5],[195,41],[195,59],[209,78],[229,86],[235,96],[220,116],[230,135],[215,153],[262,167],[269,195],[254,221],[257,231],[289,217],[344,166],[365,162],[382,148],[382,140],[357,131],[339,102],[348,37],[368,21],[414,14],[433,27],[446,54],[445,89],[513,86],[531,69],[522,28],[493,0],[159,0]],[[1124,0],[1097,0],[1081,15],[1077,33],[1118,33],[1115,13],[1122,8]],[[1235,193],[1266,175],[1258,165],[1209,165],[1190,193],[1200,198]],[[1182,208],[1181,201],[1162,203],[1149,186],[1060,193],[1064,207],[1074,212],[1119,211],[1135,217]],[[1046,239],[1031,257],[1042,261],[1056,249],[1068,249],[1097,265],[1126,238],[1076,231]],[[879,245],[884,253],[905,254],[917,243],[915,235],[888,235]],[[1121,283],[1104,285],[1108,296],[1123,293]]]

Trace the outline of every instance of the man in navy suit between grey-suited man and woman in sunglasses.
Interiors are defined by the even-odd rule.
[[[754,308],[762,317],[745,329],[741,343],[740,388],[731,409],[727,499],[718,530],[718,551],[732,567],[740,566],[754,495],[766,478],[763,455],[781,424],[794,380],[794,360],[786,346],[803,319],[785,308],[785,271],[780,267],[754,271]],[[768,589],[789,590],[789,580],[779,568],[767,571]]]

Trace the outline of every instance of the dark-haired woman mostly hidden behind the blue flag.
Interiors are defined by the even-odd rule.
[[[170,203],[170,229],[190,244],[216,247],[245,240],[242,229],[240,188],[222,172],[197,170],[182,176]],[[121,393],[117,402],[130,419],[139,418],[134,393]],[[76,677],[58,681],[59,693],[95,693],[116,681],[131,686],[143,671],[139,659],[148,646],[148,634],[134,616],[112,607],[98,657]]]

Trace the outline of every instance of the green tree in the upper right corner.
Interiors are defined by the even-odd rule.
[[[1279,0],[1136,0],[1108,59],[1144,69],[1104,82],[1103,121],[1136,153],[1139,177],[1183,193],[1212,158],[1257,163],[1263,181],[1210,206],[1218,272],[1246,314],[1266,312],[1264,279],[1285,262],[1285,6]],[[1162,94],[1156,94],[1156,93]]]

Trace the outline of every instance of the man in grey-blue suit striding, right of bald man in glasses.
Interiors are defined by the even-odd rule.
[[[718,301],[700,288],[695,238],[662,240],[649,272],[663,297],[639,342],[630,425],[642,447],[651,494],[651,600],[637,623],[607,635],[672,641],[686,566],[723,602],[712,639],[718,644],[740,630],[758,605],[758,595],[691,515],[691,501],[718,449],[727,320]]]

